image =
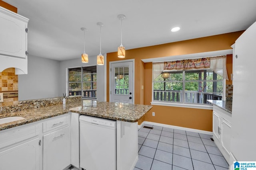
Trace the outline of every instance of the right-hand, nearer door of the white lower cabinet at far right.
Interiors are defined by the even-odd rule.
[[[221,144],[224,150],[230,155],[231,125],[224,119],[221,122]]]

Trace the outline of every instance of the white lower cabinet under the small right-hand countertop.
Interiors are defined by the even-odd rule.
[[[231,114],[216,106],[213,107],[213,139],[214,143],[229,162],[231,141]]]

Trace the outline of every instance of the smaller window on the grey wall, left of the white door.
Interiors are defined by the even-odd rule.
[[[69,96],[82,98],[97,97],[97,70],[96,66],[86,66],[68,69]]]

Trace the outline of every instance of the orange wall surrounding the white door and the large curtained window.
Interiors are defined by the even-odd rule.
[[[126,50],[126,58],[124,59],[135,60],[134,103],[150,105],[152,101],[152,63],[143,63],[141,59],[232,49],[230,46],[242,33],[243,31],[238,31]],[[227,57],[228,74],[230,74],[230,70],[232,72],[232,68],[228,65],[232,63],[230,56],[232,55]],[[119,60],[123,59],[117,57],[117,52],[107,54],[107,101],[109,101],[109,62]],[[144,90],[142,90],[142,86],[144,86]],[[152,116],[152,111],[155,112],[156,116]],[[154,105],[138,123],[143,121],[212,131],[212,110]]]

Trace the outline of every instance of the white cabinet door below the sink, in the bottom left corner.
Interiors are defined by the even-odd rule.
[[[0,152],[2,170],[39,170],[39,138]]]

